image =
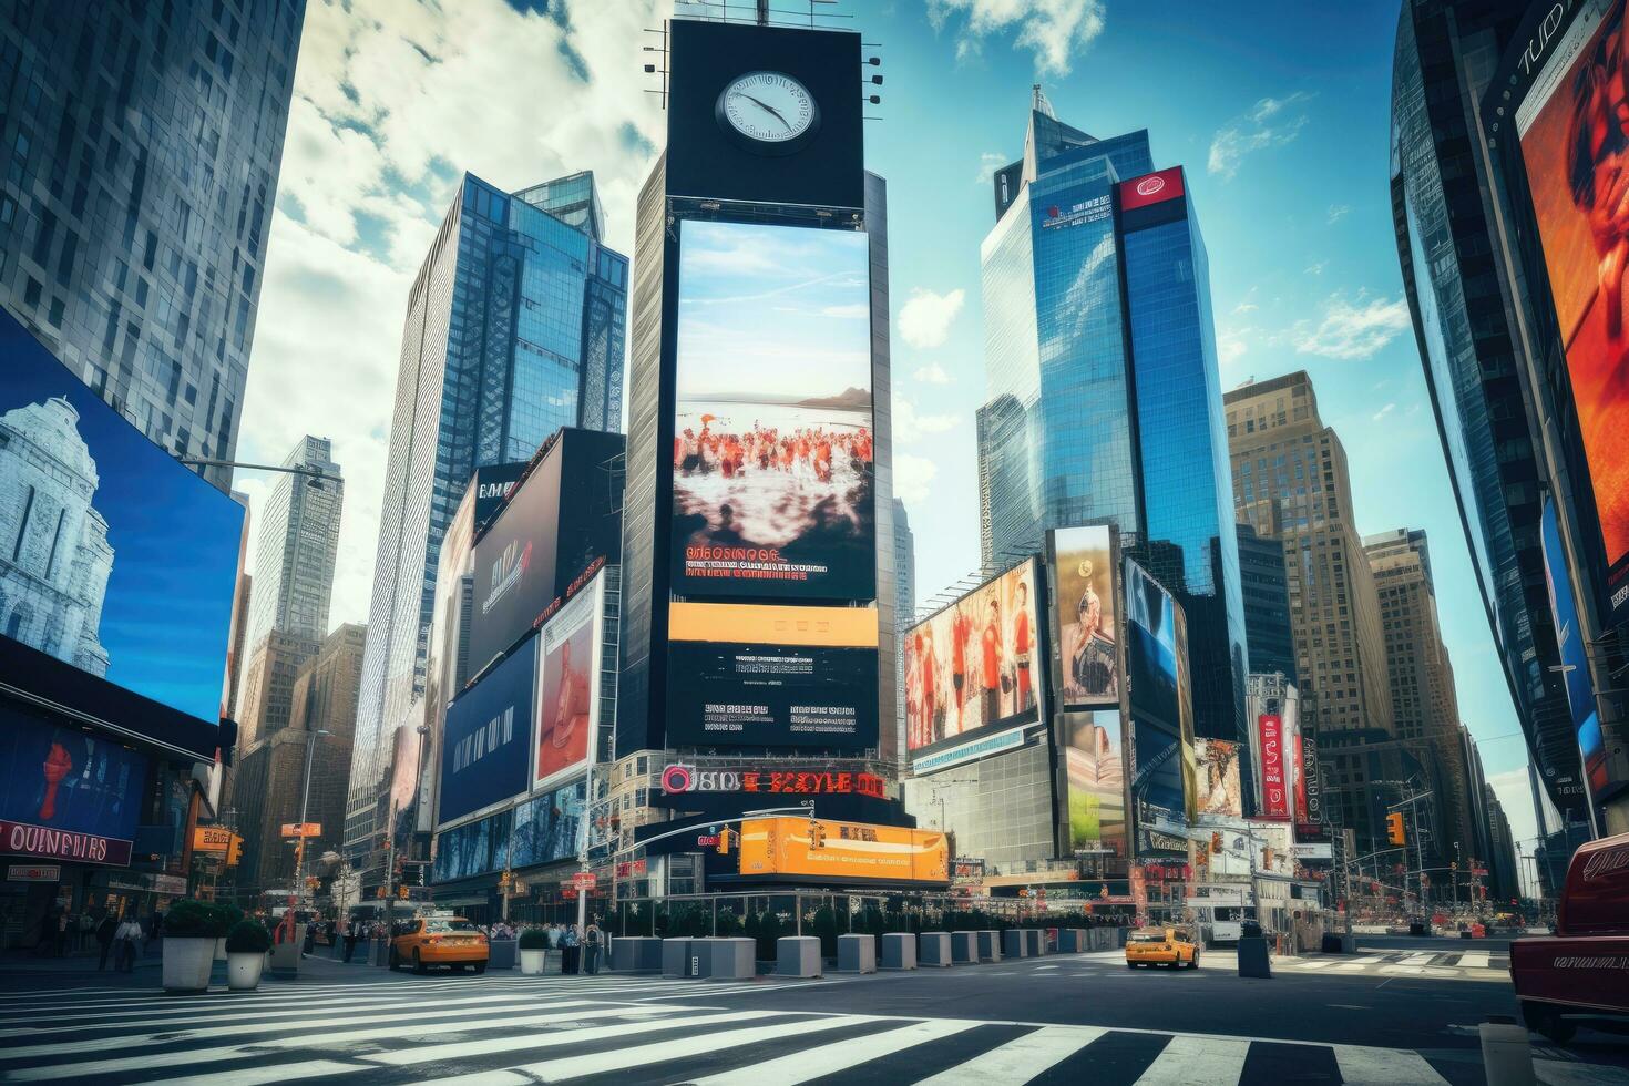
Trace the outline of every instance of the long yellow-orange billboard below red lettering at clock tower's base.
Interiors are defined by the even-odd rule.
[[[950,848],[938,830],[772,817],[743,822],[740,842],[743,876],[950,884]]]

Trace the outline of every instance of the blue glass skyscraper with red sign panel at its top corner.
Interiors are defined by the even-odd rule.
[[[987,570],[1049,528],[1113,523],[1181,602],[1194,728],[1245,736],[1245,604],[1204,239],[1148,134],[1098,140],[1034,90],[982,246]]]

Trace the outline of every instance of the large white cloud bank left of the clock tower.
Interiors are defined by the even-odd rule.
[[[334,624],[368,617],[402,316],[461,173],[515,190],[593,169],[601,204],[632,208],[663,117],[629,42],[666,7],[306,5],[238,453],[334,438]],[[632,236],[630,213],[609,217],[613,247],[632,256]],[[239,488],[270,487],[244,474]]]

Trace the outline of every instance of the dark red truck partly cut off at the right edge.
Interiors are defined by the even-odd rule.
[[[1515,939],[1510,979],[1528,1029],[1556,1044],[1579,1019],[1629,1023],[1629,834],[1574,853],[1556,935]]]

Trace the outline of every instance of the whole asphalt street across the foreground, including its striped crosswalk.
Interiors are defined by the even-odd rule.
[[[0,975],[0,1078],[1458,1086],[1486,1081],[1478,1024],[1517,1011],[1502,952],[1377,938],[1349,959],[1279,962],[1271,980],[1238,977],[1223,951],[1197,972],[1127,970],[1116,952],[814,982],[310,961],[296,982],[200,996],[165,996],[150,969]],[[1535,1040],[1539,1081],[1629,1083],[1629,1039]]]

